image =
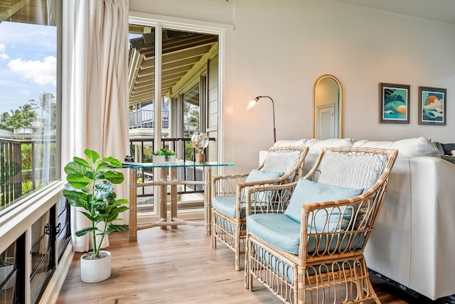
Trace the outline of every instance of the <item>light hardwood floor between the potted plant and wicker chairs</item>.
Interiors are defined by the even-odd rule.
[[[212,249],[203,227],[154,227],[139,230],[137,239],[110,234],[112,276],[99,283],[80,281],[75,254],[57,303],[281,303],[257,281],[254,291],[245,289],[234,253],[223,244]],[[372,281],[382,303],[408,303],[394,287]]]

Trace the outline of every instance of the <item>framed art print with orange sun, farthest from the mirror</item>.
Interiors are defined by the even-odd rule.
[[[446,125],[446,89],[419,87],[419,124]]]

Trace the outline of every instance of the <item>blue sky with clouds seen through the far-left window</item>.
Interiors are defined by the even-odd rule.
[[[0,114],[56,95],[57,28],[0,23]]]

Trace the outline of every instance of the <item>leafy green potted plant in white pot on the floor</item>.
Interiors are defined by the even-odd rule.
[[[93,250],[80,257],[81,279],[84,282],[103,281],[111,275],[110,253],[102,251],[101,244],[105,237],[114,231],[123,232],[125,224],[112,224],[119,220],[119,213],[128,209],[126,199],[117,200],[113,184],[124,181],[124,175],[115,170],[122,168],[116,158],[100,159],[100,154],[85,149],[88,161],[75,156],[65,165],[66,180],[63,195],[70,205],[81,207],[85,217],[90,219],[90,226],[75,232],[77,237],[91,234]],[[98,266],[102,263],[103,266]],[[90,268],[95,267],[95,268]]]

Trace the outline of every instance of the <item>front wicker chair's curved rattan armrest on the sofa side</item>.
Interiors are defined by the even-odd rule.
[[[377,185],[350,199],[302,205],[299,259],[363,252],[379,214],[375,204],[383,189],[383,185]]]

